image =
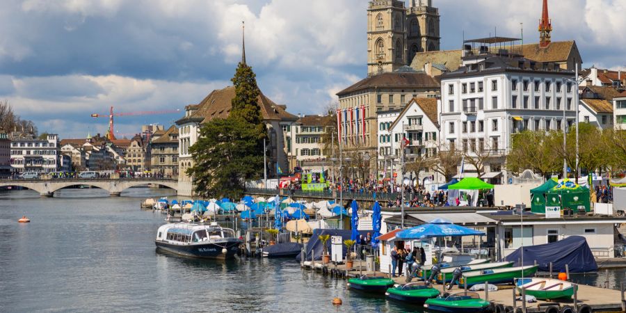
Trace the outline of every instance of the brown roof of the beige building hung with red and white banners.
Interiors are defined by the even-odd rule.
[[[367,88],[428,88],[439,89],[440,84],[424,72],[384,72],[339,91],[337,95],[352,93]]]

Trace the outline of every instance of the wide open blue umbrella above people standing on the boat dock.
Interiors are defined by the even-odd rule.
[[[431,223],[419,225],[416,227],[403,230],[396,234],[397,239],[403,240],[421,240],[435,237],[447,236],[484,236],[484,232],[472,230],[471,228],[454,225],[449,220],[435,218]]]

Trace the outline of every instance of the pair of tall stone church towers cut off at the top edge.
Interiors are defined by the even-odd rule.
[[[422,51],[440,49],[439,10],[431,0],[369,1],[367,74],[393,72]]]

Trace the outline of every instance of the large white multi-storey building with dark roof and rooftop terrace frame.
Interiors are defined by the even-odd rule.
[[[487,45],[497,39],[467,41],[478,43],[480,50],[466,45],[463,66],[441,76],[441,140],[468,157],[488,154],[491,161],[485,163],[483,178],[504,175],[506,182],[502,169],[511,136],[524,129],[566,129],[575,121],[577,93],[568,81],[574,72],[515,53],[521,51],[492,52]],[[465,172],[470,176],[476,169]]]

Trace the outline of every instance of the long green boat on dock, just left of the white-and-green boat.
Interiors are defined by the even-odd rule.
[[[473,286],[474,284],[512,284],[518,277],[533,277],[537,272],[538,265],[492,268],[483,271],[463,273],[463,277],[458,280],[458,286]]]

